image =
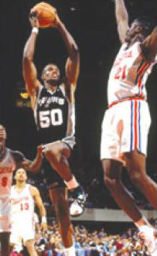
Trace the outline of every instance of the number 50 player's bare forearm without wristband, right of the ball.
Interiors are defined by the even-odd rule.
[[[79,55],[77,43],[73,39],[73,36],[70,35],[70,32],[67,31],[63,22],[59,22],[57,28],[60,31],[61,36],[63,37],[64,43],[66,44],[70,59],[74,60],[77,57],[77,55]]]

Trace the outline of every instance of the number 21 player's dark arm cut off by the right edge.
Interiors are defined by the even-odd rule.
[[[142,43],[142,51],[147,60],[154,60],[157,53],[157,26]]]

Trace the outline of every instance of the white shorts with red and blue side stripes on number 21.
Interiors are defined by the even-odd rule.
[[[101,160],[123,162],[124,153],[135,149],[146,155],[150,125],[146,101],[123,101],[109,108],[102,122]]]

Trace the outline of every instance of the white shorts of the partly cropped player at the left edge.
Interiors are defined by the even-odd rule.
[[[0,197],[0,233],[11,232],[11,204],[9,197]]]

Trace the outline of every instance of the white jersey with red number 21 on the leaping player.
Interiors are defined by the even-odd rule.
[[[148,62],[142,55],[141,43],[134,43],[126,49],[123,44],[114,60],[108,80],[108,104],[128,97],[147,98],[145,83],[155,61]]]

